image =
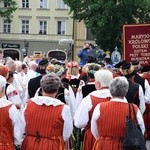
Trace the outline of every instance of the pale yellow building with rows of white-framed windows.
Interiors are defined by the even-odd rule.
[[[61,39],[73,38],[73,19],[63,0],[16,0],[18,9],[10,17],[12,22],[0,18],[0,47],[5,57],[22,59],[28,55],[50,50],[70,50],[69,43]],[[0,8],[7,7],[0,2]],[[53,54],[53,55],[56,55]],[[61,53],[59,57],[63,57]]]

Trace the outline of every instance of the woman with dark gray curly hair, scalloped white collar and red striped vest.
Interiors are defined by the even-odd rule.
[[[70,108],[55,98],[61,80],[51,73],[44,75],[40,84],[43,96],[31,98],[24,111],[26,136],[22,150],[64,150],[73,123]]]

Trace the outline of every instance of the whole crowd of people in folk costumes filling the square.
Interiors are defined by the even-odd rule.
[[[79,63],[1,61],[0,150],[123,150],[128,103],[150,140],[150,66],[87,62],[88,46]]]

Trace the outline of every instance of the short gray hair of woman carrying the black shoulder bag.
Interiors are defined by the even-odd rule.
[[[125,77],[114,78],[109,86],[113,97],[125,97],[129,89],[129,82]]]

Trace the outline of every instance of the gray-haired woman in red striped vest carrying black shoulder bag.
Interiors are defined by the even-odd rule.
[[[112,99],[98,104],[93,112],[91,131],[96,138],[93,150],[123,150],[125,120],[129,114],[129,105],[125,96],[129,89],[129,83],[125,77],[116,77],[112,80],[109,89]],[[145,126],[142,115],[138,107],[133,106],[144,134]]]

